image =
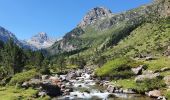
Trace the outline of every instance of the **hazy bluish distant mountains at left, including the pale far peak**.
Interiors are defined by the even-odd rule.
[[[0,26],[0,40],[7,42],[10,39],[12,39],[14,43],[16,43],[21,48],[31,50],[44,49],[51,46],[55,42],[54,39],[49,38],[44,32],[38,33],[28,41],[18,40],[14,33]]]

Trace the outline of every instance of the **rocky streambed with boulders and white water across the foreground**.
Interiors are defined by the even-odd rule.
[[[24,82],[22,87],[34,87],[39,97],[49,95],[53,100],[153,100],[93,76],[91,69],[72,70],[65,75],[42,75]]]

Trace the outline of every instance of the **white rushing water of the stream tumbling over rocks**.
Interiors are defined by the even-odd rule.
[[[75,80],[69,81],[73,83],[73,92],[70,92],[69,95],[59,97],[57,100],[154,100],[137,94],[111,94],[103,87],[97,86],[94,80],[90,80],[90,75],[86,73],[81,77],[77,77]]]

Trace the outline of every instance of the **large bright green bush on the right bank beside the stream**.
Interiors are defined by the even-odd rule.
[[[98,76],[109,76],[112,78],[129,78],[133,75],[131,66],[128,64],[132,62],[128,58],[117,58],[104,64],[101,68],[96,70]]]

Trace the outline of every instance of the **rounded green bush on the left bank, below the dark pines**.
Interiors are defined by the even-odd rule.
[[[12,79],[10,80],[9,85],[21,84],[25,81],[30,80],[31,78],[33,78],[37,75],[39,75],[39,73],[35,69],[15,74],[12,77]]]

